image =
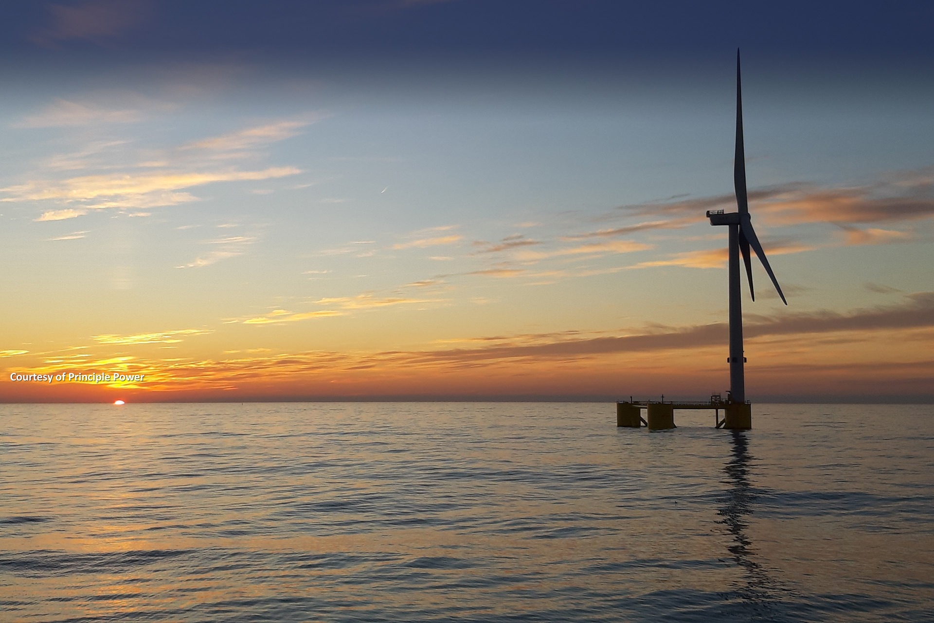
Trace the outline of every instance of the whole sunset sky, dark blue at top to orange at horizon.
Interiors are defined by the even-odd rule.
[[[0,23],[0,400],[934,400],[934,7],[96,0]],[[134,383],[10,374],[144,374]]]

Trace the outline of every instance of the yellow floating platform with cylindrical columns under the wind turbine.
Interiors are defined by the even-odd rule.
[[[616,402],[616,426],[639,428],[643,424],[650,431],[676,428],[674,425],[674,410],[678,408],[705,408],[714,411],[716,428],[730,430],[748,430],[753,427],[752,405],[748,402],[732,402],[723,400],[720,395],[712,395],[710,400],[704,402],[674,402],[630,400]],[[642,416],[645,409],[645,417]],[[720,420],[720,411],[723,411],[723,420]]]

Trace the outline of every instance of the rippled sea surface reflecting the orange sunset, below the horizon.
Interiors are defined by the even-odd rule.
[[[3,621],[930,621],[934,408],[0,406]]]

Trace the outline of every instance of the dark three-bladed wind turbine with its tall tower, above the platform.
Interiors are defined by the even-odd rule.
[[[729,227],[729,395],[731,402],[745,404],[746,391],[743,377],[743,304],[740,296],[740,254],[746,266],[749,278],[749,294],[756,300],[753,290],[753,267],[749,257],[749,247],[753,248],[765,271],[769,273],[771,283],[775,285],[778,296],[785,305],[785,295],[771,271],[769,260],[758,242],[756,230],[749,218],[749,201],[746,197],[746,162],[743,153],[743,90],[740,84],[740,50],[736,49],[736,151],[733,157],[733,187],[736,189],[738,212],[723,214],[723,210],[707,211],[711,225]],[[747,427],[747,426],[743,426]]]

